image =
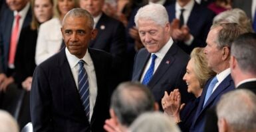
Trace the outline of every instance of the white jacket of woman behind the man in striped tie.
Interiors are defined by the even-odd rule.
[[[35,63],[39,65],[61,49],[63,36],[61,34],[61,21],[59,18],[41,24],[37,37]]]

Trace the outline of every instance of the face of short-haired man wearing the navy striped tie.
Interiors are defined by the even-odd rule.
[[[96,36],[96,31],[88,25],[88,18],[68,16],[61,28],[66,48],[79,59],[84,57],[88,43]]]

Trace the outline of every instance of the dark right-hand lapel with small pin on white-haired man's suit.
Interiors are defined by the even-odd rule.
[[[176,54],[177,49],[176,44],[172,44],[172,47],[168,50],[166,55],[164,55],[164,58],[158,66],[158,69],[156,69],[152,79],[148,82],[148,86],[153,87],[165,75],[166,71],[175,61],[174,55]]]

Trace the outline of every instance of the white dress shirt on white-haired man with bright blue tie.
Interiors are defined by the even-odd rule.
[[[157,57],[155,59],[155,66],[154,66],[154,72],[153,72],[153,75],[156,71],[156,69],[158,69],[158,66],[160,65],[162,59],[164,59],[164,56],[166,55],[166,53],[168,52],[168,50],[172,47],[172,44],[174,43],[174,40],[172,40],[172,38],[170,38],[170,40],[166,43],[166,45],[164,45],[164,47],[162,47],[158,52],[156,53],[151,53],[152,54],[155,54]],[[148,59],[148,62],[146,64],[146,67],[143,71],[143,74],[142,74],[142,77],[140,79],[140,82],[143,81],[144,79],[144,76],[146,75],[146,72],[148,71],[148,69],[150,68],[150,64],[151,64],[151,56],[150,56],[150,59]]]

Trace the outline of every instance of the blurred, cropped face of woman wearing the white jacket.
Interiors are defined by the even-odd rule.
[[[65,15],[75,6],[74,0],[58,0],[58,9],[61,15]]]

